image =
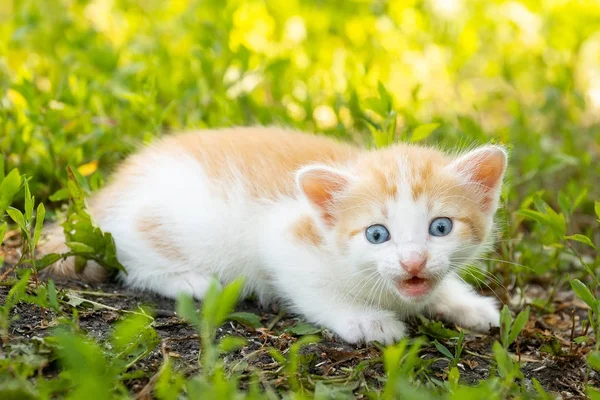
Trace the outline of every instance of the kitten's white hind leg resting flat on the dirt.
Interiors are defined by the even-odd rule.
[[[139,280],[125,277],[125,281],[130,287],[150,290],[172,299],[180,293],[186,293],[201,300],[210,285],[209,278],[193,272],[143,277]]]

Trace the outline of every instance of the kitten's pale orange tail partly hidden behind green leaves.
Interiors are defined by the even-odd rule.
[[[62,226],[57,223],[48,225],[40,240],[37,250],[42,256],[56,253],[64,254],[70,251],[65,243],[65,234]],[[75,257],[58,260],[40,271],[40,275],[48,278],[76,279],[84,282],[101,282],[108,277],[106,270],[97,262],[88,260],[81,273],[75,270]]]

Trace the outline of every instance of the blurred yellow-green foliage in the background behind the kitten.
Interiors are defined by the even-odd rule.
[[[422,143],[511,149],[499,254],[527,268],[505,284],[577,269],[567,234],[600,242],[600,2],[19,0],[0,18],[0,151],[38,200],[67,164],[96,189],[168,131],[277,124],[373,146],[437,123]]]

